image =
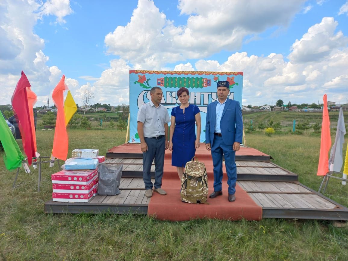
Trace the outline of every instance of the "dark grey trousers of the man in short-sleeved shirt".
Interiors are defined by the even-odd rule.
[[[148,151],[143,152],[143,180],[145,189],[152,189],[151,182],[151,166],[155,158],[155,184],[156,189],[162,186],[163,166],[164,166],[164,151],[166,146],[165,137],[159,139],[144,137],[146,144],[148,144]]]

